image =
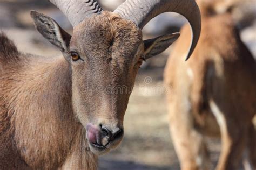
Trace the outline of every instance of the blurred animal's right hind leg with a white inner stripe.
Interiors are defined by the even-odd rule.
[[[235,123],[225,117],[217,104],[210,101],[210,107],[217,118],[221,133],[221,152],[217,170],[238,169],[247,140],[247,125]]]

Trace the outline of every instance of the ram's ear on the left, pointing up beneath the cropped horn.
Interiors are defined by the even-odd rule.
[[[55,20],[43,13],[31,11],[30,16],[33,18],[37,31],[41,33],[44,38],[58,47],[60,51],[68,52],[71,39],[69,33],[64,31]]]

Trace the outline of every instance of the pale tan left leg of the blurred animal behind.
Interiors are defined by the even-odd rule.
[[[169,109],[170,132],[181,169],[208,169],[210,161],[205,139],[194,129],[192,114],[178,104],[170,104]]]

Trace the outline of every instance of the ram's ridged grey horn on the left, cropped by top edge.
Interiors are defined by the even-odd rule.
[[[69,18],[73,27],[78,25],[84,18],[93,13],[100,13],[102,8],[95,0],[49,0],[57,6],[66,17]]]

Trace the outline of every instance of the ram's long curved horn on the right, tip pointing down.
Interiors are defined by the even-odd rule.
[[[132,20],[140,29],[160,13],[180,13],[188,20],[192,29],[190,51],[186,60],[197,45],[201,32],[201,15],[194,0],[126,0],[114,12],[124,19]]]

